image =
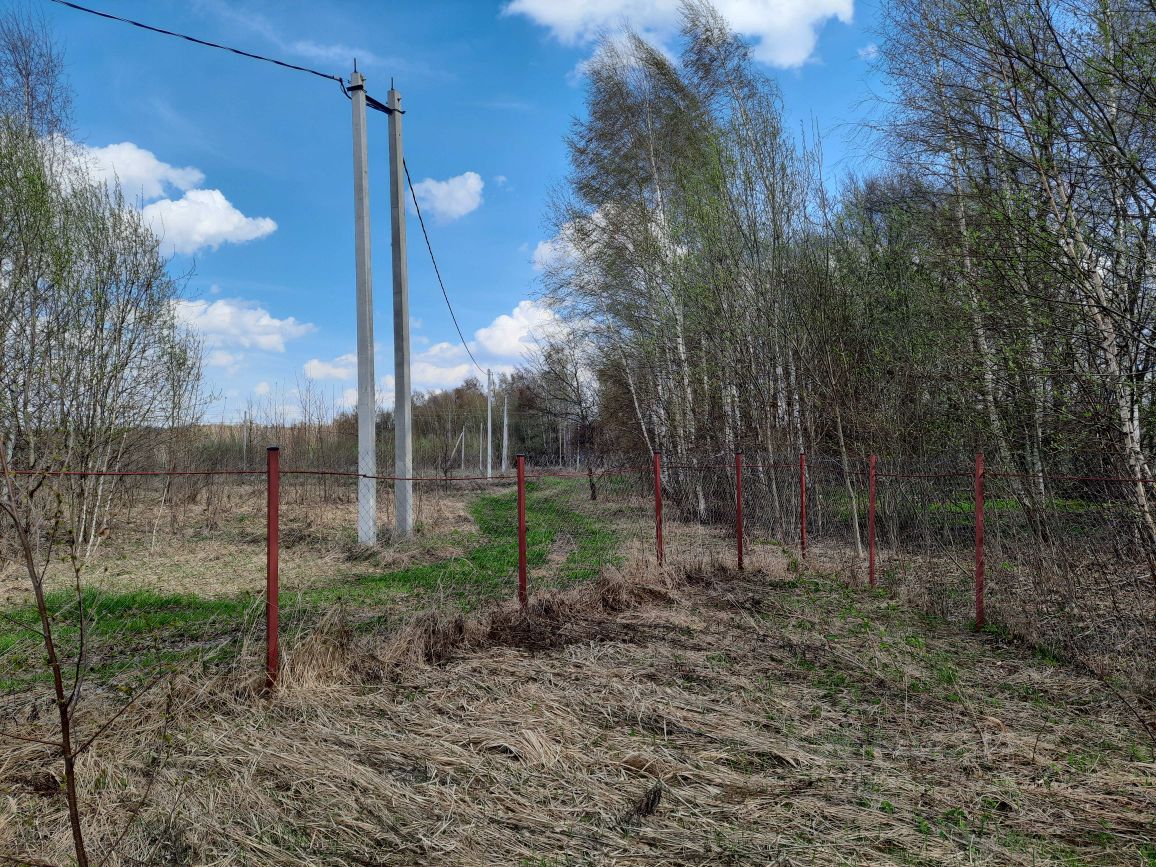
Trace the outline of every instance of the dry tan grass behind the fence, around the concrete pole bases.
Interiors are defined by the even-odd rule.
[[[281,505],[282,587],[306,590],[460,556],[477,536],[468,510],[477,488],[417,486],[414,538],[371,550],[355,544],[355,497],[313,487],[289,489]],[[265,585],[264,496],[264,489],[247,486],[228,497],[202,491],[178,506],[162,506],[153,499],[121,510],[84,570],[84,585],[205,598],[260,591]],[[386,534],[392,514],[392,494],[383,486],[378,521]],[[66,563],[50,568],[50,590],[71,583]],[[0,606],[25,605],[30,599],[20,561],[0,557]]]

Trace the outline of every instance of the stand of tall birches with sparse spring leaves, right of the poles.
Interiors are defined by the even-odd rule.
[[[1138,480],[1147,517],[1156,9],[884,9],[862,176],[825,173],[709,3],[676,59],[603,40],[550,209],[554,368],[590,372],[615,454],[986,451],[1040,494]]]

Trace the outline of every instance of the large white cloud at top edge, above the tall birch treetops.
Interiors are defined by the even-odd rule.
[[[731,27],[751,39],[755,59],[800,66],[810,58],[820,28],[830,18],[851,23],[854,0],[714,0]],[[562,43],[580,45],[623,21],[658,44],[679,30],[680,0],[510,0],[505,15],[525,15]]]

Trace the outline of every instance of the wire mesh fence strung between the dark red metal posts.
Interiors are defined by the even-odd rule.
[[[393,628],[429,610],[468,613],[517,598],[513,461],[490,479],[454,466],[410,480],[413,533],[405,536],[394,529],[397,480],[296,470],[288,457],[277,496],[282,632],[312,629],[335,612],[353,628]],[[733,565],[741,535],[748,566],[785,558],[788,568],[806,563],[862,585],[874,560],[879,586],[929,614],[956,623],[978,615],[1102,676],[1156,681],[1150,482],[985,467],[980,497],[966,462],[879,460],[873,498],[872,466],[748,453],[659,460],[655,480],[651,461],[526,465],[527,590],[568,588],[660,557],[666,565]],[[365,482],[376,494],[371,544],[360,541]],[[34,560],[44,564],[62,655],[75,658],[83,639],[94,676],[194,670],[264,642],[265,472],[22,483],[38,497]],[[45,679],[44,649],[21,544],[7,526],[0,554],[0,679],[20,694]]]

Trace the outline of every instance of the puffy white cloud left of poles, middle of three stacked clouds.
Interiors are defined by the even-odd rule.
[[[277,224],[269,217],[247,217],[220,190],[190,190],[177,200],[161,199],[141,209],[172,252],[190,254],[222,244],[240,244],[272,235]]]

